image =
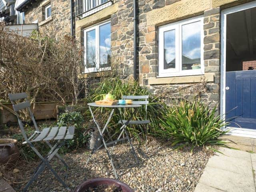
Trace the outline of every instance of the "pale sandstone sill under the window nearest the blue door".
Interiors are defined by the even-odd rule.
[[[205,73],[204,75],[194,76],[179,76],[179,77],[158,77],[149,78],[148,84],[181,84],[181,83],[199,83],[199,82],[214,82],[214,73]]]

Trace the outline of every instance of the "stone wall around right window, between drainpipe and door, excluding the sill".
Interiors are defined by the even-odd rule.
[[[219,103],[220,8],[209,8],[210,0],[139,1],[138,60],[140,63],[140,84],[148,86],[154,94],[161,95],[168,103],[176,98],[190,99],[194,98],[194,96],[202,98],[210,107]],[[173,11],[170,12],[170,10]],[[187,11],[188,13],[186,13]],[[158,12],[162,13],[159,15],[157,14]],[[204,14],[205,73],[214,74],[213,80],[211,82],[191,82],[186,84],[148,84],[148,80],[155,78],[158,74],[158,26],[191,18],[198,14]]]

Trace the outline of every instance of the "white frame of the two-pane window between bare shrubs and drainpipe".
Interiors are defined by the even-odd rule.
[[[111,70],[111,66],[110,67],[103,67],[100,68],[100,56],[96,56],[96,67],[92,67],[92,68],[86,68],[86,45],[87,45],[87,38],[86,38],[86,33],[91,31],[91,30],[95,30],[95,51],[96,51],[96,55],[100,54],[100,26],[110,23],[110,20],[106,20],[104,22],[98,23],[94,26],[90,26],[89,28],[84,29],[84,73],[92,73],[92,72],[100,72],[100,71],[107,71],[107,70]],[[110,32],[111,33],[111,32]]]

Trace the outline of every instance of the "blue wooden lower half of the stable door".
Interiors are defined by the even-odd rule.
[[[226,72],[226,122],[256,129],[256,70]]]

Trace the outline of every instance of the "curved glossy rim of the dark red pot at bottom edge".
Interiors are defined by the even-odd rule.
[[[84,192],[85,190],[88,190],[90,187],[97,187],[100,185],[106,185],[106,186],[112,186],[115,185],[116,187],[121,187],[123,192],[134,192],[132,188],[130,188],[128,185],[126,185],[123,182],[120,182],[116,179],[109,179],[109,178],[95,178],[87,180],[86,182],[83,182],[80,184],[74,192]]]

